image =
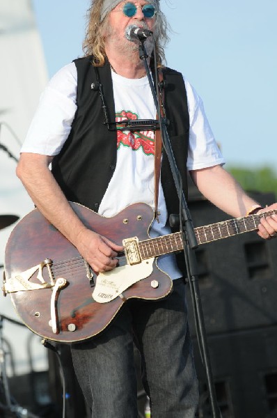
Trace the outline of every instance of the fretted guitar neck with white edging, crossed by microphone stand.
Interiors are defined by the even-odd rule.
[[[229,238],[239,233],[256,231],[262,217],[277,214],[277,210],[269,210],[256,215],[248,215],[228,221],[199,226],[194,229],[198,245],[206,244],[223,238]],[[139,242],[139,250],[143,260],[147,258],[161,256],[163,254],[180,251],[184,248],[182,234],[180,232],[171,233],[157,238],[150,238]]]

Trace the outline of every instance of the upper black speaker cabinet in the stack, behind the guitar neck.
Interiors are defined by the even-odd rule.
[[[273,194],[252,196],[264,206],[275,200]],[[190,201],[189,209],[194,226],[230,219],[205,200]],[[276,254],[277,239],[263,240],[255,231],[199,245],[198,283],[208,334],[277,323]],[[188,304],[191,310],[189,296]]]

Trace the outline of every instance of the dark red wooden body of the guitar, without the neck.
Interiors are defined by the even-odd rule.
[[[139,240],[149,238],[148,229],[153,219],[153,211],[144,203],[128,206],[112,218],[101,217],[77,203],[70,204],[88,228],[118,245],[122,245],[122,240],[129,237],[136,236]],[[171,279],[157,268],[155,261],[152,264],[150,277],[140,279],[122,295],[108,303],[95,302],[92,297],[93,280],[87,277],[83,258],[77,249],[35,209],[15,226],[8,240],[5,258],[6,284],[8,285],[10,278],[13,277],[17,277],[17,281],[27,277],[31,285],[40,286],[42,281],[49,284],[49,267],[45,265],[41,269],[42,278],[37,278],[39,269],[35,268],[47,258],[52,261],[54,282],[56,283],[59,278],[66,280],[65,286],[56,293],[54,301],[51,302],[53,286],[8,293],[25,325],[48,340],[75,343],[89,339],[111,323],[125,300],[132,297],[156,300],[171,292]],[[126,258],[122,254],[119,257],[119,265],[124,264]],[[132,272],[132,266],[130,267]],[[33,274],[31,268],[35,270]],[[117,268],[113,271],[116,272]],[[29,278],[30,274],[31,278]],[[152,286],[153,281],[157,281],[157,287]],[[54,316],[53,312],[51,314],[51,306],[55,309],[56,330],[53,327]]]

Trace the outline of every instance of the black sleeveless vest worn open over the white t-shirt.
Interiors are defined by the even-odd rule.
[[[52,173],[69,201],[81,203],[97,212],[116,168],[117,136],[104,125],[99,91],[91,88],[97,82],[91,57],[74,61],[77,67],[77,112],[70,135],[61,153],[54,157]],[[116,121],[111,68],[109,62],[98,68],[109,121]],[[182,176],[187,196],[187,152],[189,144],[189,111],[187,92],[180,72],[164,68],[168,134],[175,162]],[[179,212],[179,200],[169,167],[163,155],[161,184],[168,214]]]

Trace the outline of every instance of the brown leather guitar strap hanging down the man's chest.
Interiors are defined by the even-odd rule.
[[[158,69],[159,75],[159,104],[161,109],[161,118],[165,118],[166,112],[164,109],[164,75],[161,71],[161,68]],[[159,116],[157,115],[157,119]],[[159,211],[158,211],[158,201],[159,201],[159,178],[161,174],[161,130],[157,128],[155,131],[155,219],[159,222]]]

